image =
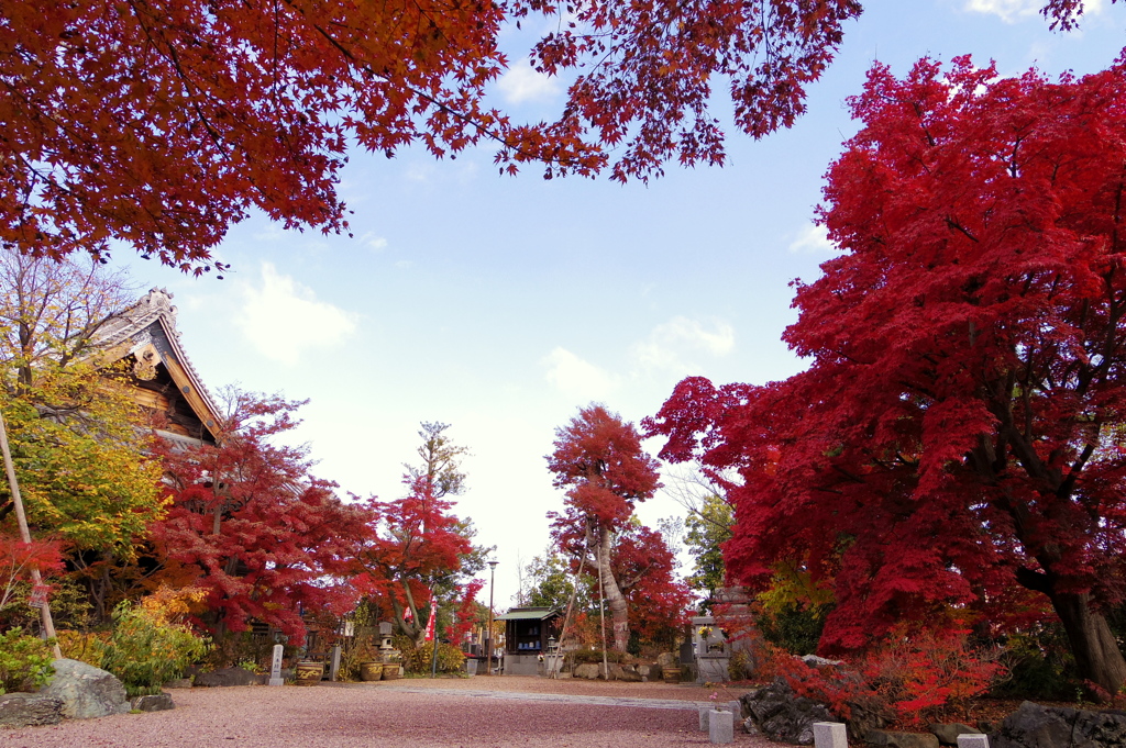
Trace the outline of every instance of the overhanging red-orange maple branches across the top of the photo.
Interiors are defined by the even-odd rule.
[[[349,142],[435,156],[482,139],[502,170],[625,180],[723,160],[711,79],[759,136],[804,109],[856,0],[0,1],[0,243],[60,258],[110,240],[200,272],[252,208],[347,229]],[[485,101],[506,24],[555,18],[530,51],[569,80],[552,123]],[[538,22],[538,21],[537,21]],[[769,42],[767,42],[769,39]],[[220,265],[221,267],[221,265]]]

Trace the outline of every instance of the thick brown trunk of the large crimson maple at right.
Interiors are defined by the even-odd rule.
[[[1049,593],[1052,606],[1063,622],[1075,666],[1082,678],[1114,695],[1126,683],[1126,659],[1101,613],[1090,607],[1090,594]]]

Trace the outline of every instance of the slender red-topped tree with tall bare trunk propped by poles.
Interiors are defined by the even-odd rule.
[[[629,523],[636,502],[661,487],[656,460],[641,448],[641,435],[601,405],[590,405],[555,431],[547,466],[556,488],[566,489],[563,514],[549,513],[556,543],[572,557],[590,558],[614,621],[614,648],[629,642],[629,604],[624,578],[615,574],[615,539]]]

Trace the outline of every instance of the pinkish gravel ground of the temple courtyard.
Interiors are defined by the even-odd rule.
[[[671,748],[709,745],[711,691],[535,677],[173,691],[169,712],[0,729],[3,748]],[[723,693],[721,700],[738,692]],[[771,744],[736,731],[743,748]]]

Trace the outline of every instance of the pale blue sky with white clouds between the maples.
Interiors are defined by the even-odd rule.
[[[780,341],[795,321],[790,281],[815,280],[832,256],[813,210],[857,130],[844,101],[875,61],[903,75],[922,56],[973,54],[1003,75],[1082,74],[1126,46],[1126,3],[1088,2],[1070,34],[1052,33],[1039,4],[865,2],[805,116],[758,142],[729,121],[722,169],[671,165],[622,186],[545,181],[535,168],[500,177],[489,147],[441,162],[421,148],[357,151],[340,186],[355,238],[254,216],[215,252],[232,265],[224,280],[127,249],[115,263],[142,292],[175,294],[181,342],[213,393],[310,399],[294,441],[342,492],[402,495],[419,423],[450,424],[472,452],[455,514],[497,547],[494,600],[507,610],[519,567],[548,544],[547,512],[562,507],[544,456],[580,407],[604,403],[636,423],[687,376],[765,384],[803,368]],[[515,55],[494,96],[513,119],[538,120],[563,89]],[[685,510],[662,492],[637,514],[655,525]]]

